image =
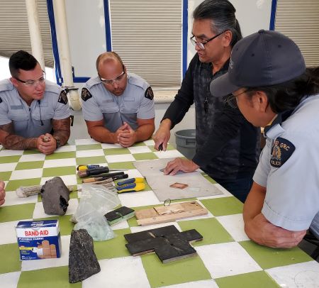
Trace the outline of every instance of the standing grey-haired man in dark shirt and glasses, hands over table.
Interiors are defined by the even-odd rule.
[[[198,167],[245,201],[259,158],[259,129],[248,123],[238,109],[211,96],[213,79],[228,72],[233,45],[242,38],[235,8],[227,0],[203,1],[194,11],[193,37],[197,54],[191,60],[178,94],[155,133],[155,149],[167,148],[169,130],[179,123],[194,103],[196,155],[167,164],[165,175]]]

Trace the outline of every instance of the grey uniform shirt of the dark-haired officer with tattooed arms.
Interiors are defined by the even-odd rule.
[[[69,117],[69,105],[61,87],[45,81],[43,99],[28,106],[9,79],[0,82],[0,125],[13,122],[14,133],[33,138],[52,131],[52,119]]]

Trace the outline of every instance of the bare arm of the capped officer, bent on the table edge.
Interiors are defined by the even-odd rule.
[[[289,231],[270,223],[262,214],[265,195],[266,188],[254,182],[244,205],[245,233],[260,245],[272,248],[295,247],[306,231]]]

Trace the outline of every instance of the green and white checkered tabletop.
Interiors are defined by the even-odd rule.
[[[155,151],[153,145],[152,140],[147,140],[131,148],[121,148],[84,139],[75,140],[48,156],[36,151],[5,150],[0,145],[0,179],[6,183],[6,203],[0,207],[0,286],[319,287],[319,264],[302,250],[265,248],[247,238],[241,202],[218,184],[216,186],[223,194],[198,198],[208,209],[207,216],[143,227],[138,226],[135,218],[130,218],[112,226],[116,238],[94,242],[101,272],[83,282],[69,284],[69,240],[74,225],[69,218],[77,209],[81,192],[70,194],[65,216],[48,216],[44,213],[40,196],[18,198],[15,190],[20,186],[44,184],[55,176],[60,176],[67,185],[80,188],[81,179],[76,175],[76,167],[85,164],[125,168],[129,177],[142,177],[135,170],[134,161],[182,156],[171,145],[166,152]],[[119,194],[121,204],[135,210],[162,205],[146,186],[142,192]],[[59,220],[61,258],[19,260],[15,226],[18,221],[32,219]],[[203,240],[192,244],[198,253],[196,257],[162,264],[155,253],[133,257],[125,248],[124,234],[172,224],[179,231],[195,228],[201,233]]]

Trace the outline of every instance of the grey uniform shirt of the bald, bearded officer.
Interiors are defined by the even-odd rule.
[[[155,117],[154,99],[150,99],[149,91],[152,91],[150,85],[133,73],[128,73],[128,83],[121,96],[109,92],[99,77],[91,78],[82,89],[83,117],[86,121],[100,121],[104,118],[104,126],[112,133],[124,121],[136,130],[137,118]]]

